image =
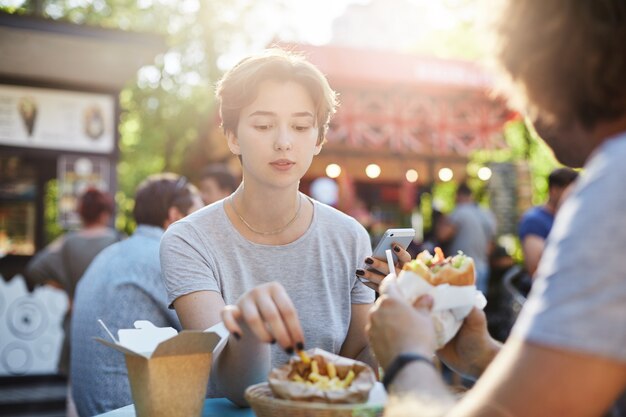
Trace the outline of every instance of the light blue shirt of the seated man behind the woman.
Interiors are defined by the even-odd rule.
[[[161,279],[159,243],[163,229],[139,225],[128,239],[104,249],[78,283],[72,319],[70,380],[76,408],[92,416],[133,402],[124,355],[93,340],[108,339],[102,319],[114,334],[136,320],[180,330],[167,308]]]

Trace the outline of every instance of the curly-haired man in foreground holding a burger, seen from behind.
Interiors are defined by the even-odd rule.
[[[368,328],[392,397],[386,415],[430,406],[446,416],[624,416],[626,2],[508,0],[496,28],[512,102],[560,162],[584,173],[504,346],[473,310],[435,352],[432,298],[409,305],[393,280],[383,283]],[[480,376],[458,403],[432,367],[435,353]]]

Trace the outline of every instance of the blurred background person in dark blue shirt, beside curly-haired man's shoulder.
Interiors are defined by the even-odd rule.
[[[537,270],[563,192],[576,178],[578,172],[571,168],[552,171],[548,176],[548,201],[530,208],[520,220],[518,234],[524,253],[524,267],[531,277]]]

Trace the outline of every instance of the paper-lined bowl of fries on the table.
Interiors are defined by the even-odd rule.
[[[258,416],[363,416],[382,413],[382,405],[366,404],[376,383],[365,363],[312,349],[272,370],[268,384],[246,391]],[[369,412],[367,411],[369,409]]]

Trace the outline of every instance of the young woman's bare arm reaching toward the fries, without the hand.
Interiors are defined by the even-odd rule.
[[[184,329],[205,330],[219,323],[224,306],[224,299],[214,291],[196,291],[174,301]],[[262,343],[244,324],[241,327],[241,339],[230,334],[226,346],[214,354],[211,380],[226,398],[239,406],[247,406],[244,391],[267,378],[271,357],[270,345]]]

